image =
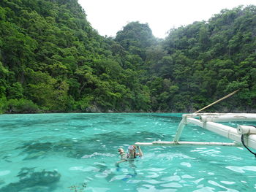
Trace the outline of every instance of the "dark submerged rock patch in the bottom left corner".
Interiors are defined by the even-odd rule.
[[[56,183],[61,178],[61,174],[57,171],[34,172],[34,168],[23,168],[18,176],[20,180],[16,183],[10,183],[0,188],[0,192],[18,192],[27,188],[34,188],[37,185],[49,185]]]

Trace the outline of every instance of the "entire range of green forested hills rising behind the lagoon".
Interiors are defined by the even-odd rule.
[[[0,112],[256,109],[256,7],[222,10],[165,39],[132,22],[102,37],[77,0],[0,1]]]

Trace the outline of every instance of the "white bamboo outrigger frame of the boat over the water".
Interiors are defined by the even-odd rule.
[[[247,147],[256,149],[256,128],[255,126],[238,125],[236,128],[225,126],[217,122],[243,122],[255,121],[255,113],[192,113],[182,115],[182,120],[178,125],[176,136],[172,142],[156,141],[156,142],[136,142],[135,145],[140,146],[233,146],[238,147],[244,142]],[[233,142],[181,142],[179,141],[184,126],[192,123],[201,128],[206,128],[216,134],[227,137]],[[245,147],[246,147],[245,146]]]

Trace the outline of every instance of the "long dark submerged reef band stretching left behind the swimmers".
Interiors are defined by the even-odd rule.
[[[23,143],[23,146],[16,149],[22,150],[20,155],[26,155],[24,161],[28,159],[45,158],[48,155],[64,155],[68,158],[91,157],[96,152],[99,154],[109,153],[109,147],[116,147],[116,143],[132,144],[144,139],[163,140],[165,136],[162,134],[151,133],[148,131],[140,131],[140,134],[130,134],[129,137],[121,132],[115,131],[104,134],[96,134],[95,138],[83,139],[64,139],[57,142],[32,142]],[[107,147],[106,147],[107,146]]]

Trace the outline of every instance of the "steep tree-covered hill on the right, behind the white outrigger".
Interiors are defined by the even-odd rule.
[[[153,110],[194,111],[241,88],[211,110],[256,109],[256,7],[224,9],[206,22],[174,28],[149,55]],[[159,56],[159,53],[162,56]],[[156,83],[156,92],[154,86]],[[153,87],[151,87],[153,86]]]

